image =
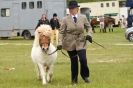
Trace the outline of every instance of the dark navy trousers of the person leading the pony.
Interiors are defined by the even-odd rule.
[[[87,66],[86,50],[67,51],[71,60],[71,80],[77,82],[78,80],[78,57],[80,61],[80,75],[83,79],[89,77],[89,68]]]

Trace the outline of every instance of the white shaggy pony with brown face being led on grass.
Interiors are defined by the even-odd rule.
[[[31,58],[37,66],[38,79],[43,85],[52,81],[53,66],[57,58],[57,52],[48,55],[56,50],[50,43],[52,28],[49,25],[40,25],[35,30],[35,39],[31,50]]]

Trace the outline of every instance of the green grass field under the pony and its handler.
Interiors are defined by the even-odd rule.
[[[133,42],[119,28],[113,33],[96,31],[93,39],[106,49],[87,46],[90,84],[79,75],[78,85],[72,86],[69,58],[58,52],[52,83],[42,86],[30,58],[33,40],[12,38],[0,40],[0,88],[133,88]]]

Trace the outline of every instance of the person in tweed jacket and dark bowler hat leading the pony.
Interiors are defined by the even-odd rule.
[[[77,1],[70,1],[68,4],[70,14],[63,19],[59,30],[59,42],[57,49],[65,49],[71,61],[71,81],[78,83],[78,58],[80,62],[80,75],[85,83],[90,83],[89,67],[86,56],[86,40],[92,43],[92,28],[85,15],[78,13]],[[87,35],[84,33],[87,28]]]

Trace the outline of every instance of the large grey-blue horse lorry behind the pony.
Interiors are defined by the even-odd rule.
[[[66,0],[0,0],[0,38],[31,39],[42,14],[48,19],[66,15]]]

